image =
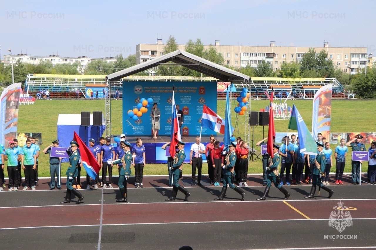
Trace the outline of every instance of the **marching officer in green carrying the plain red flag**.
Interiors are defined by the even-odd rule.
[[[278,149],[279,149],[279,146],[273,144],[273,158],[271,158],[270,166],[266,167],[265,169],[266,175],[267,175],[266,188],[265,188],[264,194],[256,200],[265,200],[266,197],[268,197],[271,182],[273,182],[274,186],[278,188],[285,195],[285,198],[283,198],[284,200],[287,200],[288,197],[290,197],[290,193],[288,193],[288,191],[279,184],[278,166],[281,161],[281,158],[279,156]]]

